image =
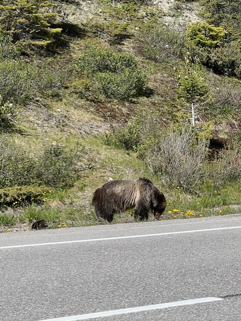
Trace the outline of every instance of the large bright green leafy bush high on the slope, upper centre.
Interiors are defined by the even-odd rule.
[[[129,99],[143,94],[146,75],[137,59],[103,48],[84,50],[76,62],[76,72],[95,81],[91,90],[108,98]],[[91,84],[89,84],[91,85]]]

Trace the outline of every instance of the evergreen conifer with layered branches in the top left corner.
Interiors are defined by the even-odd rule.
[[[42,0],[0,1],[0,32],[11,36],[21,51],[50,46],[62,31],[51,28],[57,15],[50,12],[52,6]]]

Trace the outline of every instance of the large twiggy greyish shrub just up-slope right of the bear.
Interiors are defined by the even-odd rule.
[[[146,150],[144,161],[163,184],[192,192],[206,174],[206,139],[197,139],[190,126],[173,126]]]

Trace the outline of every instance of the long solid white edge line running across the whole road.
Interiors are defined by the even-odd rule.
[[[116,236],[116,237],[106,237],[106,238],[100,238],[100,239],[85,239],[85,240],[75,240],[75,241],[60,241],[60,242],[49,242],[49,243],[34,243],[34,244],[22,244],[22,245],[10,245],[10,246],[0,246],[0,250],[3,250],[3,249],[14,249],[14,248],[19,248],[19,247],[42,246],[42,245],[84,243],[84,242],[94,242],[94,241],[107,241],[107,240],[119,240],[119,239],[133,239],[133,238],[138,238],[138,237],[150,237],[150,236],[162,236],[162,235],[197,233],[197,232],[221,231],[221,230],[240,229],[240,228],[241,228],[241,226],[231,226],[231,227],[218,227],[218,228],[213,228],[213,229],[204,229],[204,230],[190,230],[190,231],[166,232],[166,233],[156,233],[156,234]]]

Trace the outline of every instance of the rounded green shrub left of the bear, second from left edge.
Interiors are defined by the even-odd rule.
[[[72,186],[76,179],[77,154],[60,144],[47,147],[39,159],[39,180],[54,187]]]

